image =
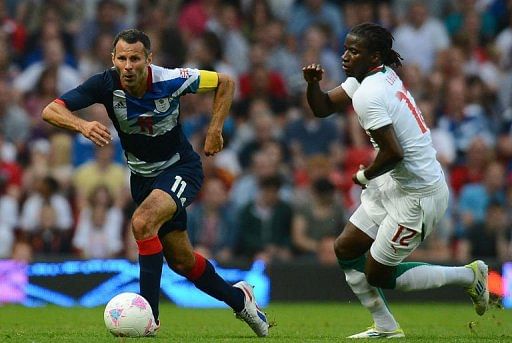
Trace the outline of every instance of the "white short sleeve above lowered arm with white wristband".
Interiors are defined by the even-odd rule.
[[[377,87],[359,88],[352,104],[365,130],[377,130],[392,123],[384,94]]]

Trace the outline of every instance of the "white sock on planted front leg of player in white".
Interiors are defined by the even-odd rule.
[[[384,331],[393,331],[398,328],[398,323],[389,312],[384,299],[377,288],[371,286],[364,273],[354,269],[344,269],[348,285],[359,298],[361,304],[372,314],[375,325]]]

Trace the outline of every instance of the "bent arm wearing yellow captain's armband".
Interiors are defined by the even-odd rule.
[[[226,74],[201,70],[198,92],[212,90],[215,91],[215,95],[213,97],[212,117],[204,143],[206,156],[215,155],[224,146],[222,128],[233,102],[235,82]]]

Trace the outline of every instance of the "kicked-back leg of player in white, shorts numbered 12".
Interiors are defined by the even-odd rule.
[[[370,250],[367,275],[371,284],[403,291],[439,288],[458,285],[467,289],[475,304],[475,310],[482,315],[488,304],[487,265],[475,261],[467,266],[439,266],[419,262],[402,262],[441,220],[447,206],[447,193],[443,190],[418,199],[416,211],[423,223],[422,231],[399,225],[391,217],[383,221],[378,239]],[[414,213],[415,211],[410,211]],[[379,237],[380,236],[380,237]]]

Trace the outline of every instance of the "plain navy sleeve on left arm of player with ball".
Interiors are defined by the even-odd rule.
[[[96,74],[87,79],[78,87],[64,93],[59,97],[66,108],[77,111],[94,103],[102,103],[106,92],[112,89],[112,77],[108,71]]]

